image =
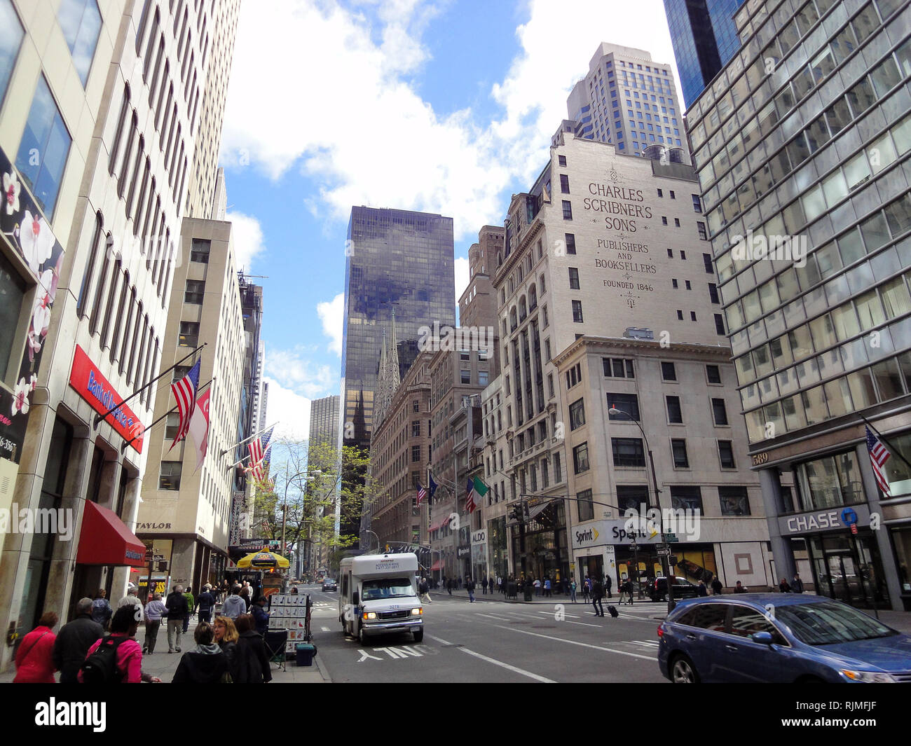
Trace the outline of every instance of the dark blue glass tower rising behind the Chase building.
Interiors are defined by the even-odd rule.
[[[734,12],[743,0],[664,0],[683,103],[691,103],[740,47]]]

